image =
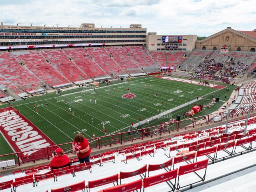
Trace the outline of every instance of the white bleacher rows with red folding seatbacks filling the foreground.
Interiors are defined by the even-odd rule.
[[[173,138],[135,144],[90,156],[89,163],[50,170],[48,165],[16,170],[0,178],[0,190],[64,192],[177,191],[204,184],[255,163],[256,118]],[[154,186],[154,187],[153,187]]]

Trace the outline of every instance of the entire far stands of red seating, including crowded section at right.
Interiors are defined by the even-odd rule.
[[[3,86],[16,94],[40,89],[45,84],[61,88],[73,83],[91,82],[91,78],[103,80],[123,74],[156,72],[159,67],[181,66],[181,70],[191,70],[195,66],[195,78],[230,81],[229,78],[242,74],[248,68],[253,70],[255,59],[254,52],[148,52],[143,46],[14,51],[0,54],[0,78]],[[204,63],[210,60],[212,62]],[[222,65],[216,66],[218,63]],[[10,66],[12,70],[9,70]],[[19,78],[24,76],[26,81]]]

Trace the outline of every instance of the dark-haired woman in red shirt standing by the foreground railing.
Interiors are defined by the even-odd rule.
[[[86,138],[82,134],[76,134],[72,143],[72,148],[75,154],[77,154],[80,163],[90,162],[91,148]]]

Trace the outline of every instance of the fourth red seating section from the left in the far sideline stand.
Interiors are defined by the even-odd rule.
[[[77,48],[64,51],[90,78],[107,76],[107,74],[99,68],[96,62],[94,62],[94,60],[87,54],[85,49]]]

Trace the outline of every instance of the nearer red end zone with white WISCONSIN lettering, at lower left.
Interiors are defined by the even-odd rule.
[[[15,108],[0,109],[0,121],[0,132],[12,150],[23,152],[19,156],[21,162],[44,158],[45,150],[39,148],[56,145],[26,117],[18,114]],[[15,137],[17,137],[17,142]],[[24,152],[27,150],[33,151]]]

